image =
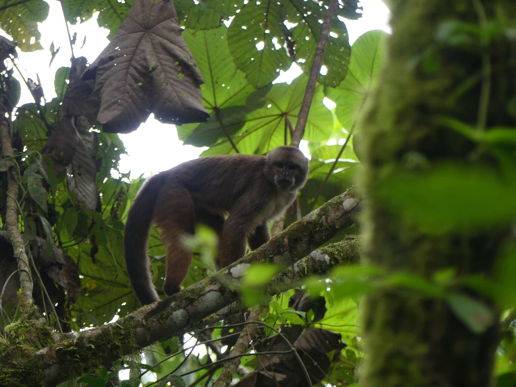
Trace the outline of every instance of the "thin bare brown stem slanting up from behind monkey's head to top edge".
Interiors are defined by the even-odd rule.
[[[337,3],[338,0],[330,0],[330,5],[328,6],[324,21],[322,22],[319,41],[317,42],[317,48],[315,49],[314,61],[312,62],[310,75],[308,77],[307,90],[304,92],[303,102],[297,117],[296,130],[294,131],[294,135],[291,139],[292,147],[299,147],[299,143],[304,135],[304,127],[307,125],[308,113],[310,111],[312,99],[314,98],[315,85],[321,70],[322,57],[324,57],[324,52],[328,43],[328,35],[330,34],[331,22],[337,9]]]

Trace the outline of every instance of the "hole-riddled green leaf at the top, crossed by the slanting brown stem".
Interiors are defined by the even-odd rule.
[[[296,59],[303,72],[309,74],[322,27],[319,20],[324,19],[326,8],[311,1],[291,4],[296,8],[296,13],[302,15],[302,20],[291,29],[296,43]],[[289,21],[294,22],[290,17]],[[325,86],[335,87],[346,77],[351,49],[348,30],[343,22],[334,18],[330,31],[322,58],[322,65],[326,67],[327,73],[319,75],[317,80]]]

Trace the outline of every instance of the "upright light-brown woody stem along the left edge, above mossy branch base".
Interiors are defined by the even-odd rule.
[[[2,153],[4,157],[14,157],[14,151],[11,146],[11,136],[9,134],[9,123],[6,119],[3,119],[0,123],[0,136],[2,138]],[[33,282],[32,277],[28,274],[30,273],[28,258],[24,248],[22,233],[18,227],[18,188],[17,182],[11,176],[11,171],[8,171],[6,203],[7,235],[12,245],[13,256],[18,263],[22,300],[24,302],[33,302]]]

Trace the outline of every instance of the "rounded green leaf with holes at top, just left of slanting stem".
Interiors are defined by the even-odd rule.
[[[267,86],[292,59],[283,49],[285,9],[275,0],[250,1],[231,22],[228,43],[236,66],[256,88]],[[274,42],[276,42],[276,44]],[[263,43],[263,48],[256,47]]]

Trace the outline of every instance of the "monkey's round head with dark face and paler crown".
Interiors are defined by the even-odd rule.
[[[308,158],[294,147],[278,147],[265,156],[265,176],[279,190],[303,188],[308,178]]]

